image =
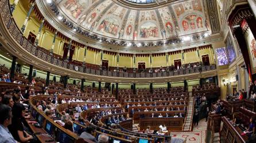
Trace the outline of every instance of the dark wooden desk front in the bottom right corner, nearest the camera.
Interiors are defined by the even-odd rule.
[[[225,142],[246,142],[248,140],[247,135],[241,136],[243,130],[241,130],[238,126],[233,126],[232,123],[228,121],[226,117],[223,117],[222,121],[222,135],[224,136]]]

